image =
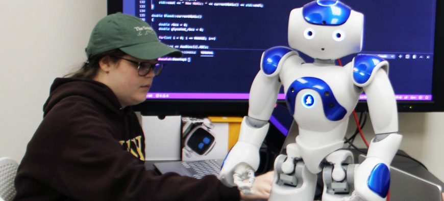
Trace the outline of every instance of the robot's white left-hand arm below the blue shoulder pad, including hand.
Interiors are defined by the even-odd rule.
[[[221,181],[239,186],[233,176],[245,176],[259,167],[259,148],[268,132],[270,118],[279,92],[278,77],[268,78],[259,72],[250,91],[249,116],[240,125],[239,138],[228,153],[220,171]],[[275,92],[276,91],[276,92]],[[251,182],[252,183],[252,182]],[[240,186],[239,186],[240,187]]]

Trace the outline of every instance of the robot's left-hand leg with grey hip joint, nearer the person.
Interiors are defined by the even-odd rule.
[[[317,176],[308,171],[296,143],[287,146],[287,155],[281,154],[275,160],[275,177],[268,200],[313,200]]]

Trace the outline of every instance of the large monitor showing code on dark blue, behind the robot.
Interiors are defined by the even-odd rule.
[[[146,101],[134,107],[168,115],[246,115],[252,81],[262,52],[288,46],[292,9],[311,0],[278,1],[108,1],[108,13],[123,12],[151,24],[159,39],[180,49],[182,58],[159,58],[166,64]],[[399,111],[443,111],[442,16],[436,0],[341,1],[364,14],[360,53],[389,62]],[[313,59],[302,54],[306,62]],[[350,55],[342,64],[352,61]],[[278,96],[284,104],[284,94]],[[366,109],[365,94],[358,110]]]

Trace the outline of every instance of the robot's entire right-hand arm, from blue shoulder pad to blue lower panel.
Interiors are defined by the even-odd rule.
[[[390,186],[389,166],[401,144],[398,111],[388,79],[388,63],[373,55],[354,60],[354,80],[367,96],[367,104],[376,137],[366,159],[355,173],[355,192],[365,200],[385,200]]]

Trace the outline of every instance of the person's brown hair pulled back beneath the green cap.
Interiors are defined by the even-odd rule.
[[[104,58],[105,56],[109,56],[109,59],[112,62],[117,62],[118,58],[122,57],[125,54],[126,53],[120,49],[98,53],[94,56],[91,56],[91,58],[89,58],[88,61],[85,62],[79,70],[66,74],[63,77],[92,79],[97,74],[98,69],[100,69],[98,62],[100,62],[102,58]]]

